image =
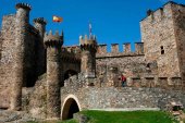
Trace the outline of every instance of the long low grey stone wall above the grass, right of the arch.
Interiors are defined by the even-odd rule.
[[[62,103],[69,94],[77,97],[82,110],[85,109],[165,109],[171,101],[185,106],[185,94],[161,88],[135,87],[86,87],[79,90],[61,89]]]

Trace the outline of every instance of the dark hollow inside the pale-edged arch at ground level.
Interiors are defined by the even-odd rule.
[[[73,119],[73,114],[79,112],[79,108],[73,98],[70,98],[63,108],[62,120]]]

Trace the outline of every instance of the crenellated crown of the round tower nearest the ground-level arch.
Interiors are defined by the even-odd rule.
[[[63,45],[63,32],[61,35],[59,35],[59,32],[57,30],[54,35],[52,35],[52,30],[49,32],[49,34],[45,34],[44,38],[45,45],[48,47],[61,47]]]

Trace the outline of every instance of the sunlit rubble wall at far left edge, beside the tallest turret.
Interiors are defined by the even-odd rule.
[[[0,59],[0,108],[9,108],[12,67],[14,66],[15,48],[15,15],[3,16],[1,29],[1,59]],[[9,95],[9,96],[8,96]]]

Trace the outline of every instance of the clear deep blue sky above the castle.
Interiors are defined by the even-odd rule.
[[[78,45],[79,35],[88,34],[88,23],[99,44],[140,41],[139,21],[148,9],[156,10],[168,0],[0,0],[0,23],[5,14],[15,13],[17,2],[32,5],[30,23],[45,17],[47,30],[64,30],[64,45]],[[185,4],[185,0],[173,0]],[[63,17],[61,24],[52,22],[52,15]]]

